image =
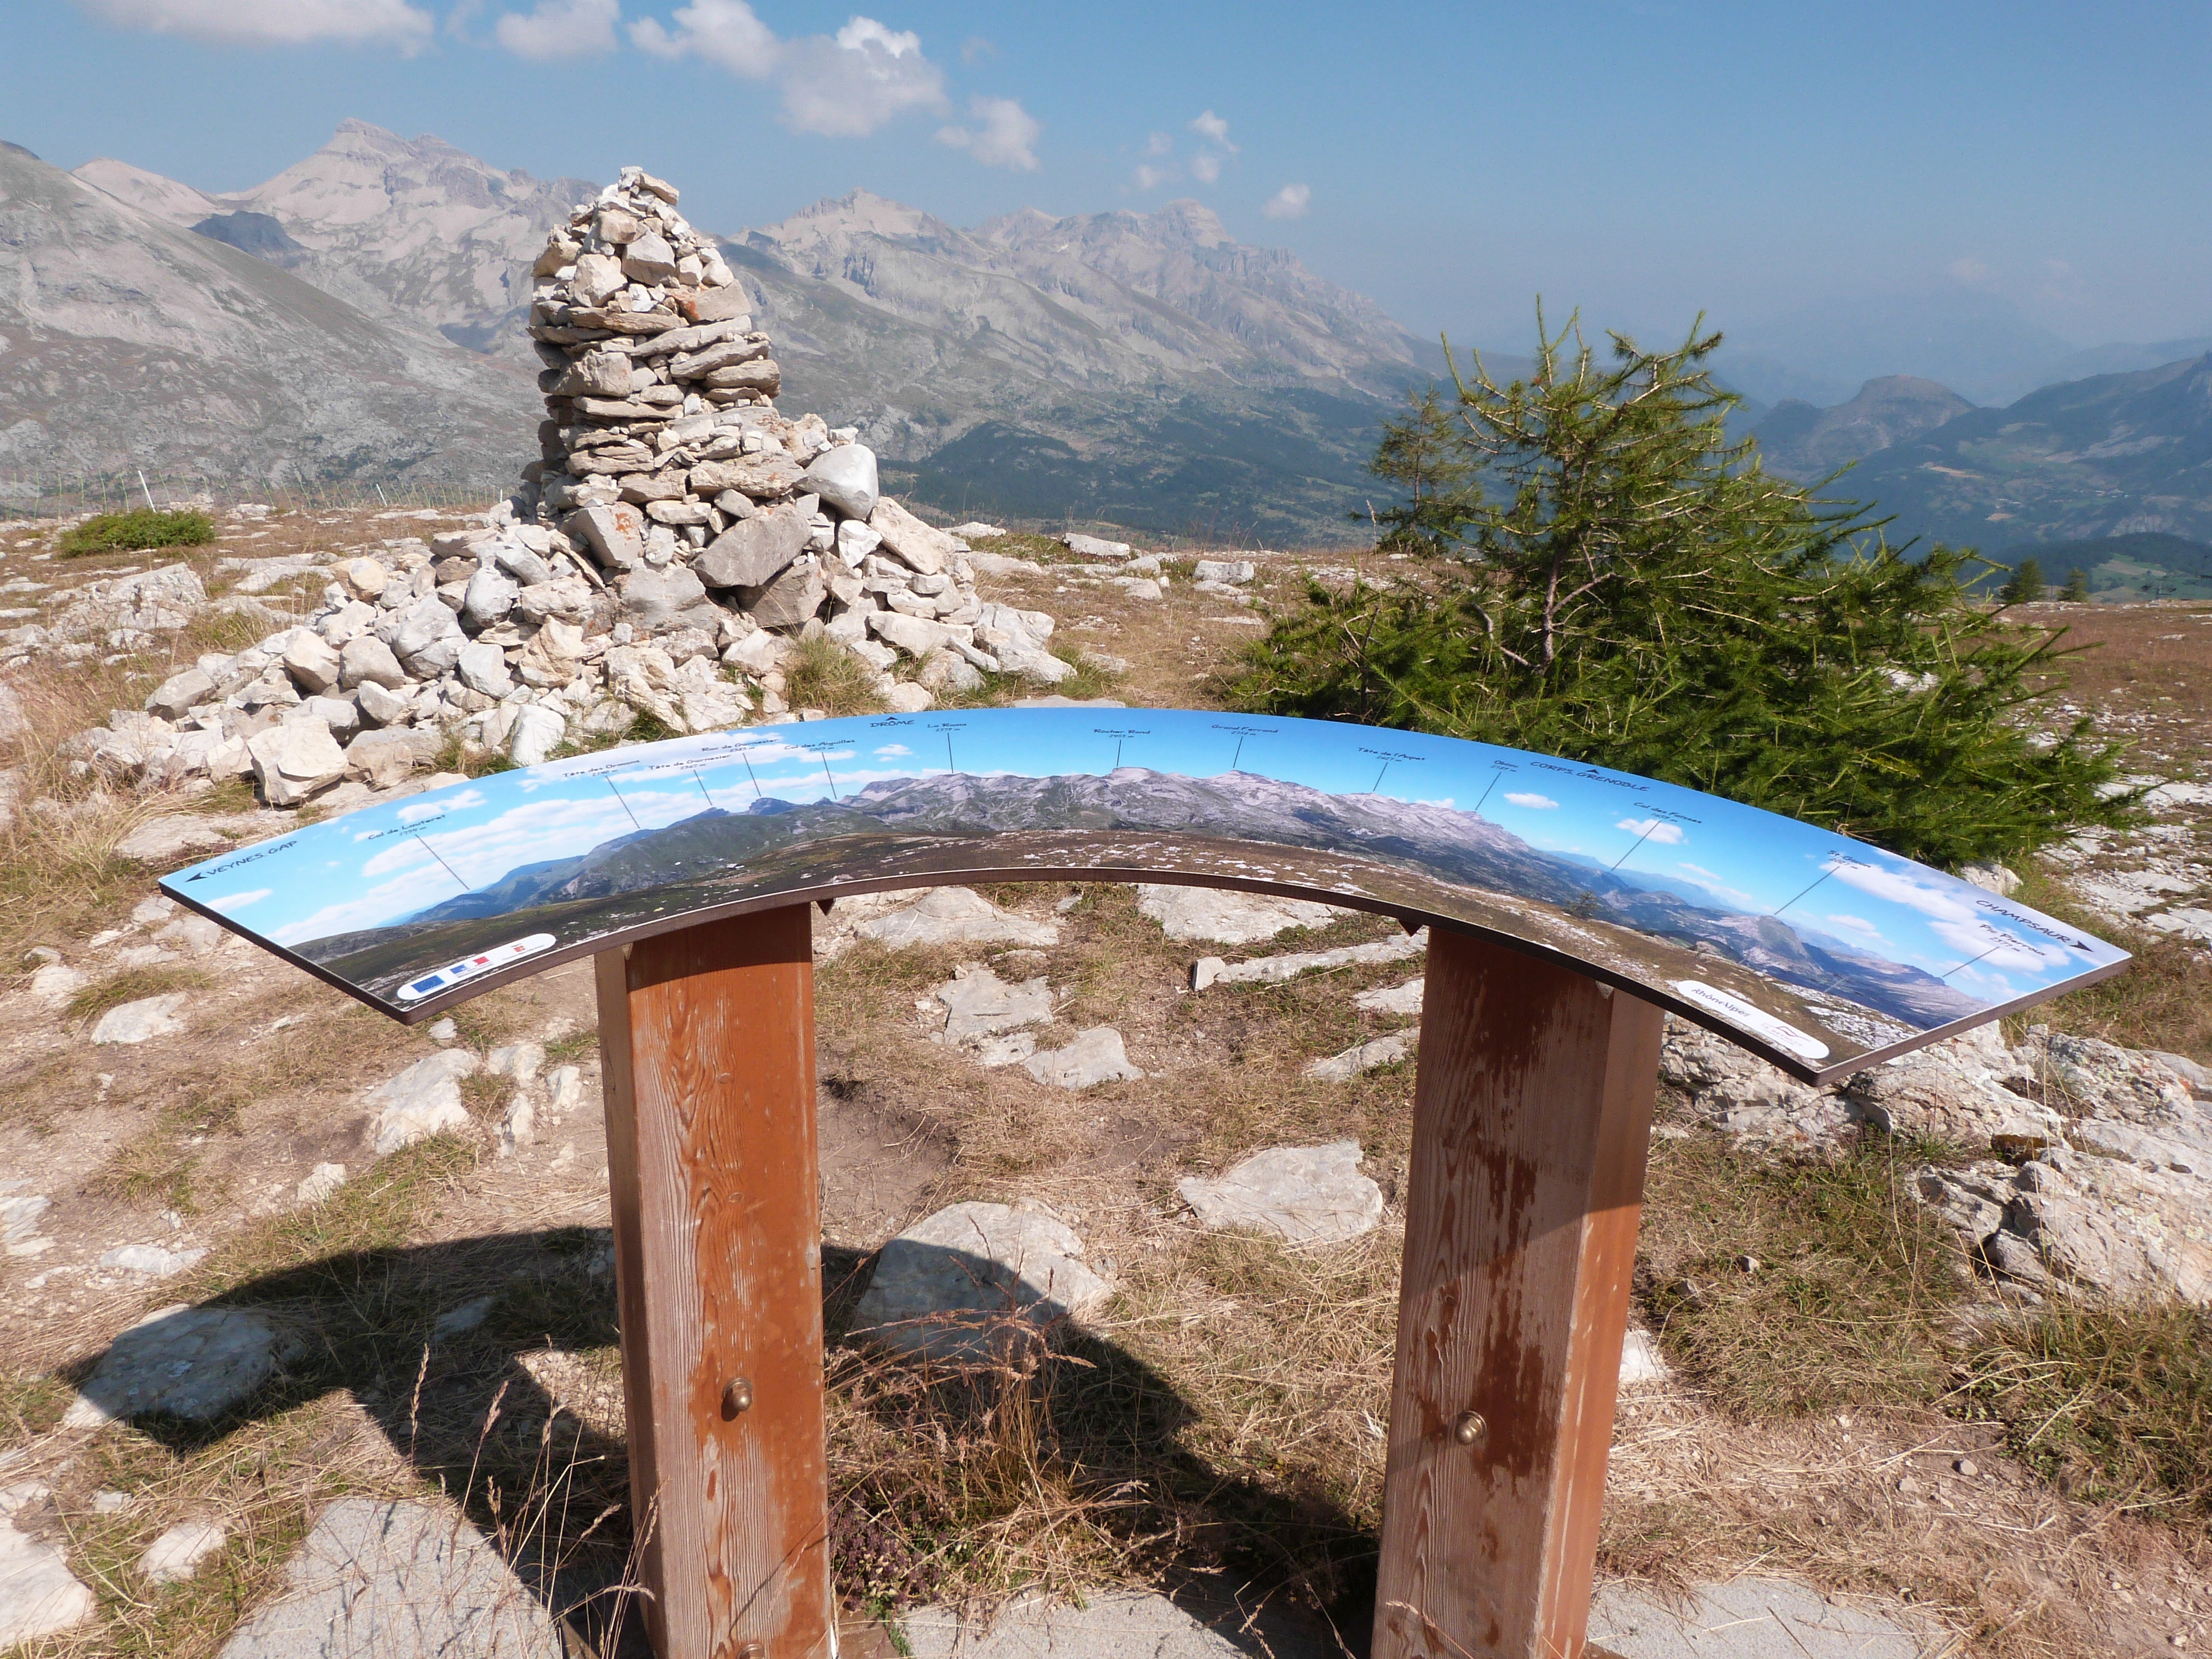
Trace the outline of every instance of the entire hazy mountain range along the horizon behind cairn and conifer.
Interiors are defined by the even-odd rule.
[[[529,268],[593,192],[365,122],[237,192],[0,150],[18,272],[0,290],[0,495],[135,467],[511,480],[535,449]],[[1442,372],[1374,301],[1234,241],[1197,201],[962,230],[854,190],[721,248],[787,407],[858,425],[891,489],[958,518],[1354,535],[1383,420]],[[2208,345],[2079,352],[1958,285],[1730,330],[1719,369],[1754,398],[1770,467],[1856,462],[1838,489],[1898,538],[2197,542]],[[1856,396],[1845,372],[1867,372]],[[2115,566],[2106,588],[2124,586]]]

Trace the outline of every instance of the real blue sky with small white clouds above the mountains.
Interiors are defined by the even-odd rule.
[[[4,0],[0,137],[232,190],[361,117],[639,161],[721,232],[854,186],[956,223],[1194,195],[1482,345],[1537,292],[1648,336],[1922,290],[2212,330],[2197,0],[860,4]]]

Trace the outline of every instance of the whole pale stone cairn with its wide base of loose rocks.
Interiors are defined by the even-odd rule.
[[[270,805],[301,805],[343,779],[396,785],[456,730],[533,765],[637,714],[670,732],[790,714],[783,668],[814,635],[898,712],[982,672],[1073,672],[1048,615],[978,599],[969,546],[878,493],[856,429],[776,411],[770,341],[675,186],[624,168],[535,276],[546,420],[520,491],[482,526],[341,564],[305,624],[173,675],[144,714],[82,734],[86,761],[252,772]]]

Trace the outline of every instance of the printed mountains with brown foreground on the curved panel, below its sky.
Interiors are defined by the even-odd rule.
[[[615,836],[573,858],[520,865],[392,927],[310,940],[296,953],[372,993],[389,993],[438,962],[522,933],[546,931],[560,945],[575,945],[648,916],[787,889],[801,878],[821,883],[841,874],[880,874],[902,867],[900,854],[931,843],[953,849],[980,838],[1055,838],[1051,863],[1066,865],[1066,836],[1086,832],[1170,834],[1172,845],[1148,843],[1155,858],[1170,863],[1177,849],[1208,843],[1329,854],[1334,865],[1296,865],[1316,885],[1340,883],[1360,865],[1380,865],[1420,876],[1422,887],[1400,896],[1427,900],[1444,914],[1464,909],[1455,889],[1473,889],[1475,898],[1502,902],[1520,918],[1513,931],[1524,936],[1544,936],[1531,920],[1564,922],[1584,933],[1579,949],[1586,956],[1593,953],[1588,927],[1604,925],[1615,947],[1626,942],[1621,960],[1635,962],[1639,978],[1659,982],[1674,971],[1694,971],[1699,958],[1708,967],[1732,962],[1809,993],[1829,1029],[1867,1048],[1989,1006],[1933,973],[1801,931],[1774,916],[1730,909],[1688,883],[1608,872],[1595,860],[1540,852],[1473,812],[1383,794],[1327,794],[1254,772],[1197,779],[1135,765],[1104,776],[951,772],[876,781],[843,801],[761,796],[739,812],[710,805],[666,827]],[[956,856],[973,863],[978,852]],[[1637,947],[1630,936],[1663,951]],[[1566,947],[1577,949],[1573,942]],[[1604,956],[1601,949],[1597,953]]]

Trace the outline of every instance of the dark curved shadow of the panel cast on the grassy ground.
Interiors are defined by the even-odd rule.
[[[190,1455],[345,1391],[595,1652],[650,1659],[630,1590],[611,1263],[608,1230],[555,1228],[234,1281],[199,1305],[263,1314],[290,1354],[210,1420],[133,1427]],[[849,1619],[1157,1584],[1252,1655],[1365,1652],[1376,1537],[1325,1493],[1270,1489],[1188,1451],[1190,1405],[1113,1343],[1062,1332],[993,1365],[931,1365],[849,1340],[872,1270],[874,1254],[823,1248],[830,1531]],[[1223,1586],[1239,1588],[1225,1599]],[[1256,1604],[1270,1613],[1248,1630]]]

